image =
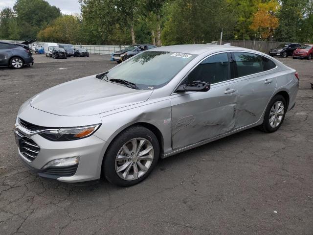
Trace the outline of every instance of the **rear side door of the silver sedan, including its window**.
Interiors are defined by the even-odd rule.
[[[238,85],[235,129],[257,122],[276,89],[276,64],[268,57],[233,52],[235,74]]]

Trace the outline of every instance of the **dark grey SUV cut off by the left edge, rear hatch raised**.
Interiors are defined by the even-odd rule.
[[[24,65],[33,65],[34,59],[27,42],[9,43],[0,41],[0,66],[21,69]]]

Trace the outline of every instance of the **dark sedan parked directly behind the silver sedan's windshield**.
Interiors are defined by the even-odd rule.
[[[117,63],[121,63],[124,60],[127,60],[128,58],[142,52],[145,50],[149,50],[152,48],[156,48],[156,46],[153,45],[147,45],[147,44],[135,44],[130,47],[126,47],[122,50],[116,51],[113,53],[112,59],[115,60]]]

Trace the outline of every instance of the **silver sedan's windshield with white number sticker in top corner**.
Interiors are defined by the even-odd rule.
[[[107,73],[108,79],[123,79],[139,89],[156,89],[167,84],[197,55],[168,51],[145,51]]]

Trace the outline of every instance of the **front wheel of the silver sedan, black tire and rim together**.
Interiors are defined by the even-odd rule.
[[[133,152],[131,149],[133,149],[134,142],[137,147],[140,143],[143,144],[139,147],[140,149],[135,148]],[[143,156],[139,155],[140,152],[148,151],[148,149],[150,149],[149,152]],[[110,183],[116,186],[135,185],[151,173],[158,161],[159,152],[159,143],[152,131],[139,125],[129,127],[122,131],[108,147],[102,163],[102,173]],[[118,156],[123,157],[117,160]]]

